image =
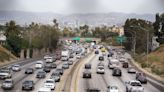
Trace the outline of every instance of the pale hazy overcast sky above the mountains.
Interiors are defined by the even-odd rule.
[[[0,10],[71,13],[162,13],[164,0],[0,0]]]

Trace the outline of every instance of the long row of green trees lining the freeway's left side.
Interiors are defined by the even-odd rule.
[[[61,36],[56,19],[53,20],[53,25],[42,25],[32,22],[29,25],[20,26],[11,20],[5,25],[1,25],[1,27],[3,27],[3,31],[7,37],[5,44],[2,46],[16,57],[20,57],[22,50],[25,52],[29,50],[30,57],[32,57],[34,50],[41,51],[42,49],[46,49],[52,52],[57,47]],[[1,54],[4,58],[7,57],[7,54]],[[3,61],[3,59],[0,61]]]

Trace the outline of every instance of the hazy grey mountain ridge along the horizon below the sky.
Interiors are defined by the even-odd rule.
[[[20,25],[37,22],[41,24],[52,24],[53,19],[57,19],[60,26],[79,26],[88,24],[91,26],[100,25],[123,25],[127,18],[144,19],[155,21],[155,14],[135,14],[135,13],[88,13],[88,14],[57,14],[53,12],[24,12],[24,11],[0,11],[0,24],[10,20],[15,20]]]

